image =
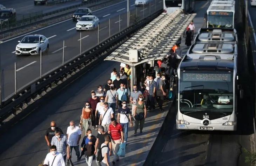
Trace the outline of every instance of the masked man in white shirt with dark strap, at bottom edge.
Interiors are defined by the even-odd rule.
[[[57,152],[57,147],[52,145],[50,152],[46,155],[43,165],[48,166],[65,166],[65,161],[61,153]]]

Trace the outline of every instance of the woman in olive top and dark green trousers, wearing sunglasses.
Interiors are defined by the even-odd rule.
[[[139,124],[140,124],[140,133],[142,133],[143,125],[146,118],[146,113],[147,113],[146,104],[143,101],[143,95],[140,94],[134,108],[134,113],[133,113],[133,116],[135,117],[134,135],[137,135]]]

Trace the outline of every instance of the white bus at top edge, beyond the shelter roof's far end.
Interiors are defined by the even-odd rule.
[[[183,9],[185,13],[193,13],[195,0],[163,0],[163,11],[173,13],[177,9]]]

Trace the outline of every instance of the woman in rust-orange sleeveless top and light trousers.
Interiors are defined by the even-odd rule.
[[[80,124],[83,124],[85,131],[87,131],[92,124],[92,120],[94,119],[93,111],[90,109],[90,103],[86,102],[85,107],[82,109],[82,115],[80,119]]]

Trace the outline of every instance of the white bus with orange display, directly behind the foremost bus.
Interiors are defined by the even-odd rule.
[[[235,1],[213,0],[204,17],[207,28],[234,28]]]

